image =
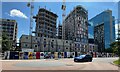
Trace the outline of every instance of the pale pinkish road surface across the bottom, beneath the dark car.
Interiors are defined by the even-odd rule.
[[[118,58],[94,58],[76,63],[73,59],[1,60],[2,70],[118,70],[111,62]]]

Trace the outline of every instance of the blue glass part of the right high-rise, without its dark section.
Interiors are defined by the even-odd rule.
[[[92,29],[91,34],[93,34],[93,36],[94,36],[94,27],[104,24],[104,29],[103,29],[104,48],[109,48],[110,44],[115,41],[115,20],[114,19],[115,18],[112,16],[112,11],[106,10],[89,20],[89,22],[93,24],[92,27],[89,27]]]

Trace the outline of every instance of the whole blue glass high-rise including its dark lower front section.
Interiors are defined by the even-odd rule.
[[[93,36],[98,51],[104,52],[115,41],[115,18],[111,10],[105,10],[89,20],[93,24]]]

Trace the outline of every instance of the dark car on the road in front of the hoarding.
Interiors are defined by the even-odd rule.
[[[80,55],[74,58],[74,62],[92,62],[92,56],[87,54]]]

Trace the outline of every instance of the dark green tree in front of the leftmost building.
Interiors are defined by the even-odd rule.
[[[2,52],[10,50],[10,48],[12,48],[12,42],[7,36],[7,33],[3,32],[2,33]]]

